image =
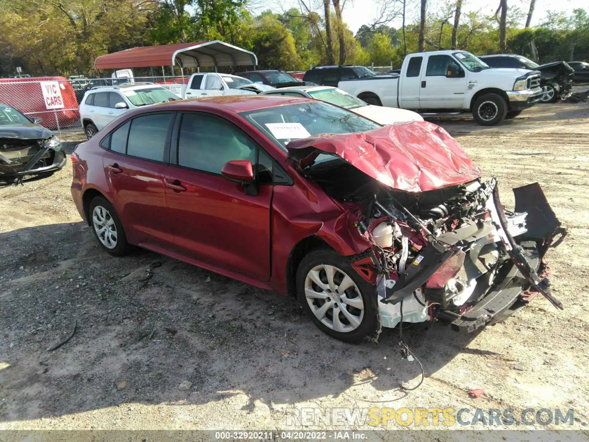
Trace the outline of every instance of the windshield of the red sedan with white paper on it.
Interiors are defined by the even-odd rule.
[[[363,132],[381,127],[374,121],[322,101],[242,112],[240,116],[284,150],[289,141],[298,138]]]

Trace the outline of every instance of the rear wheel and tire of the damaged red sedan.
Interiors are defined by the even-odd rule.
[[[92,232],[102,249],[113,256],[127,254],[130,248],[127,236],[111,203],[102,196],[94,197],[88,209],[88,217]]]

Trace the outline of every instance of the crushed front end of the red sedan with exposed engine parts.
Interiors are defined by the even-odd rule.
[[[472,332],[537,293],[562,309],[544,255],[566,232],[537,183],[514,193],[517,212],[504,210],[495,179],[375,196],[358,229],[373,243],[382,326],[436,317]]]

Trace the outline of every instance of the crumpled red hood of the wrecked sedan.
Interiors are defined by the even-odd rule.
[[[287,144],[303,169],[321,152],[336,154],[391,189],[426,192],[471,182],[481,170],[443,128],[427,121],[352,134],[321,134]]]

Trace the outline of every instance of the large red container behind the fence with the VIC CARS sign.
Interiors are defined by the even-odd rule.
[[[58,81],[64,104],[62,109],[47,109],[41,89],[42,81]],[[12,106],[30,118],[41,118],[41,124],[45,127],[63,128],[80,120],[78,100],[65,77],[0,78],[0,103]]]

